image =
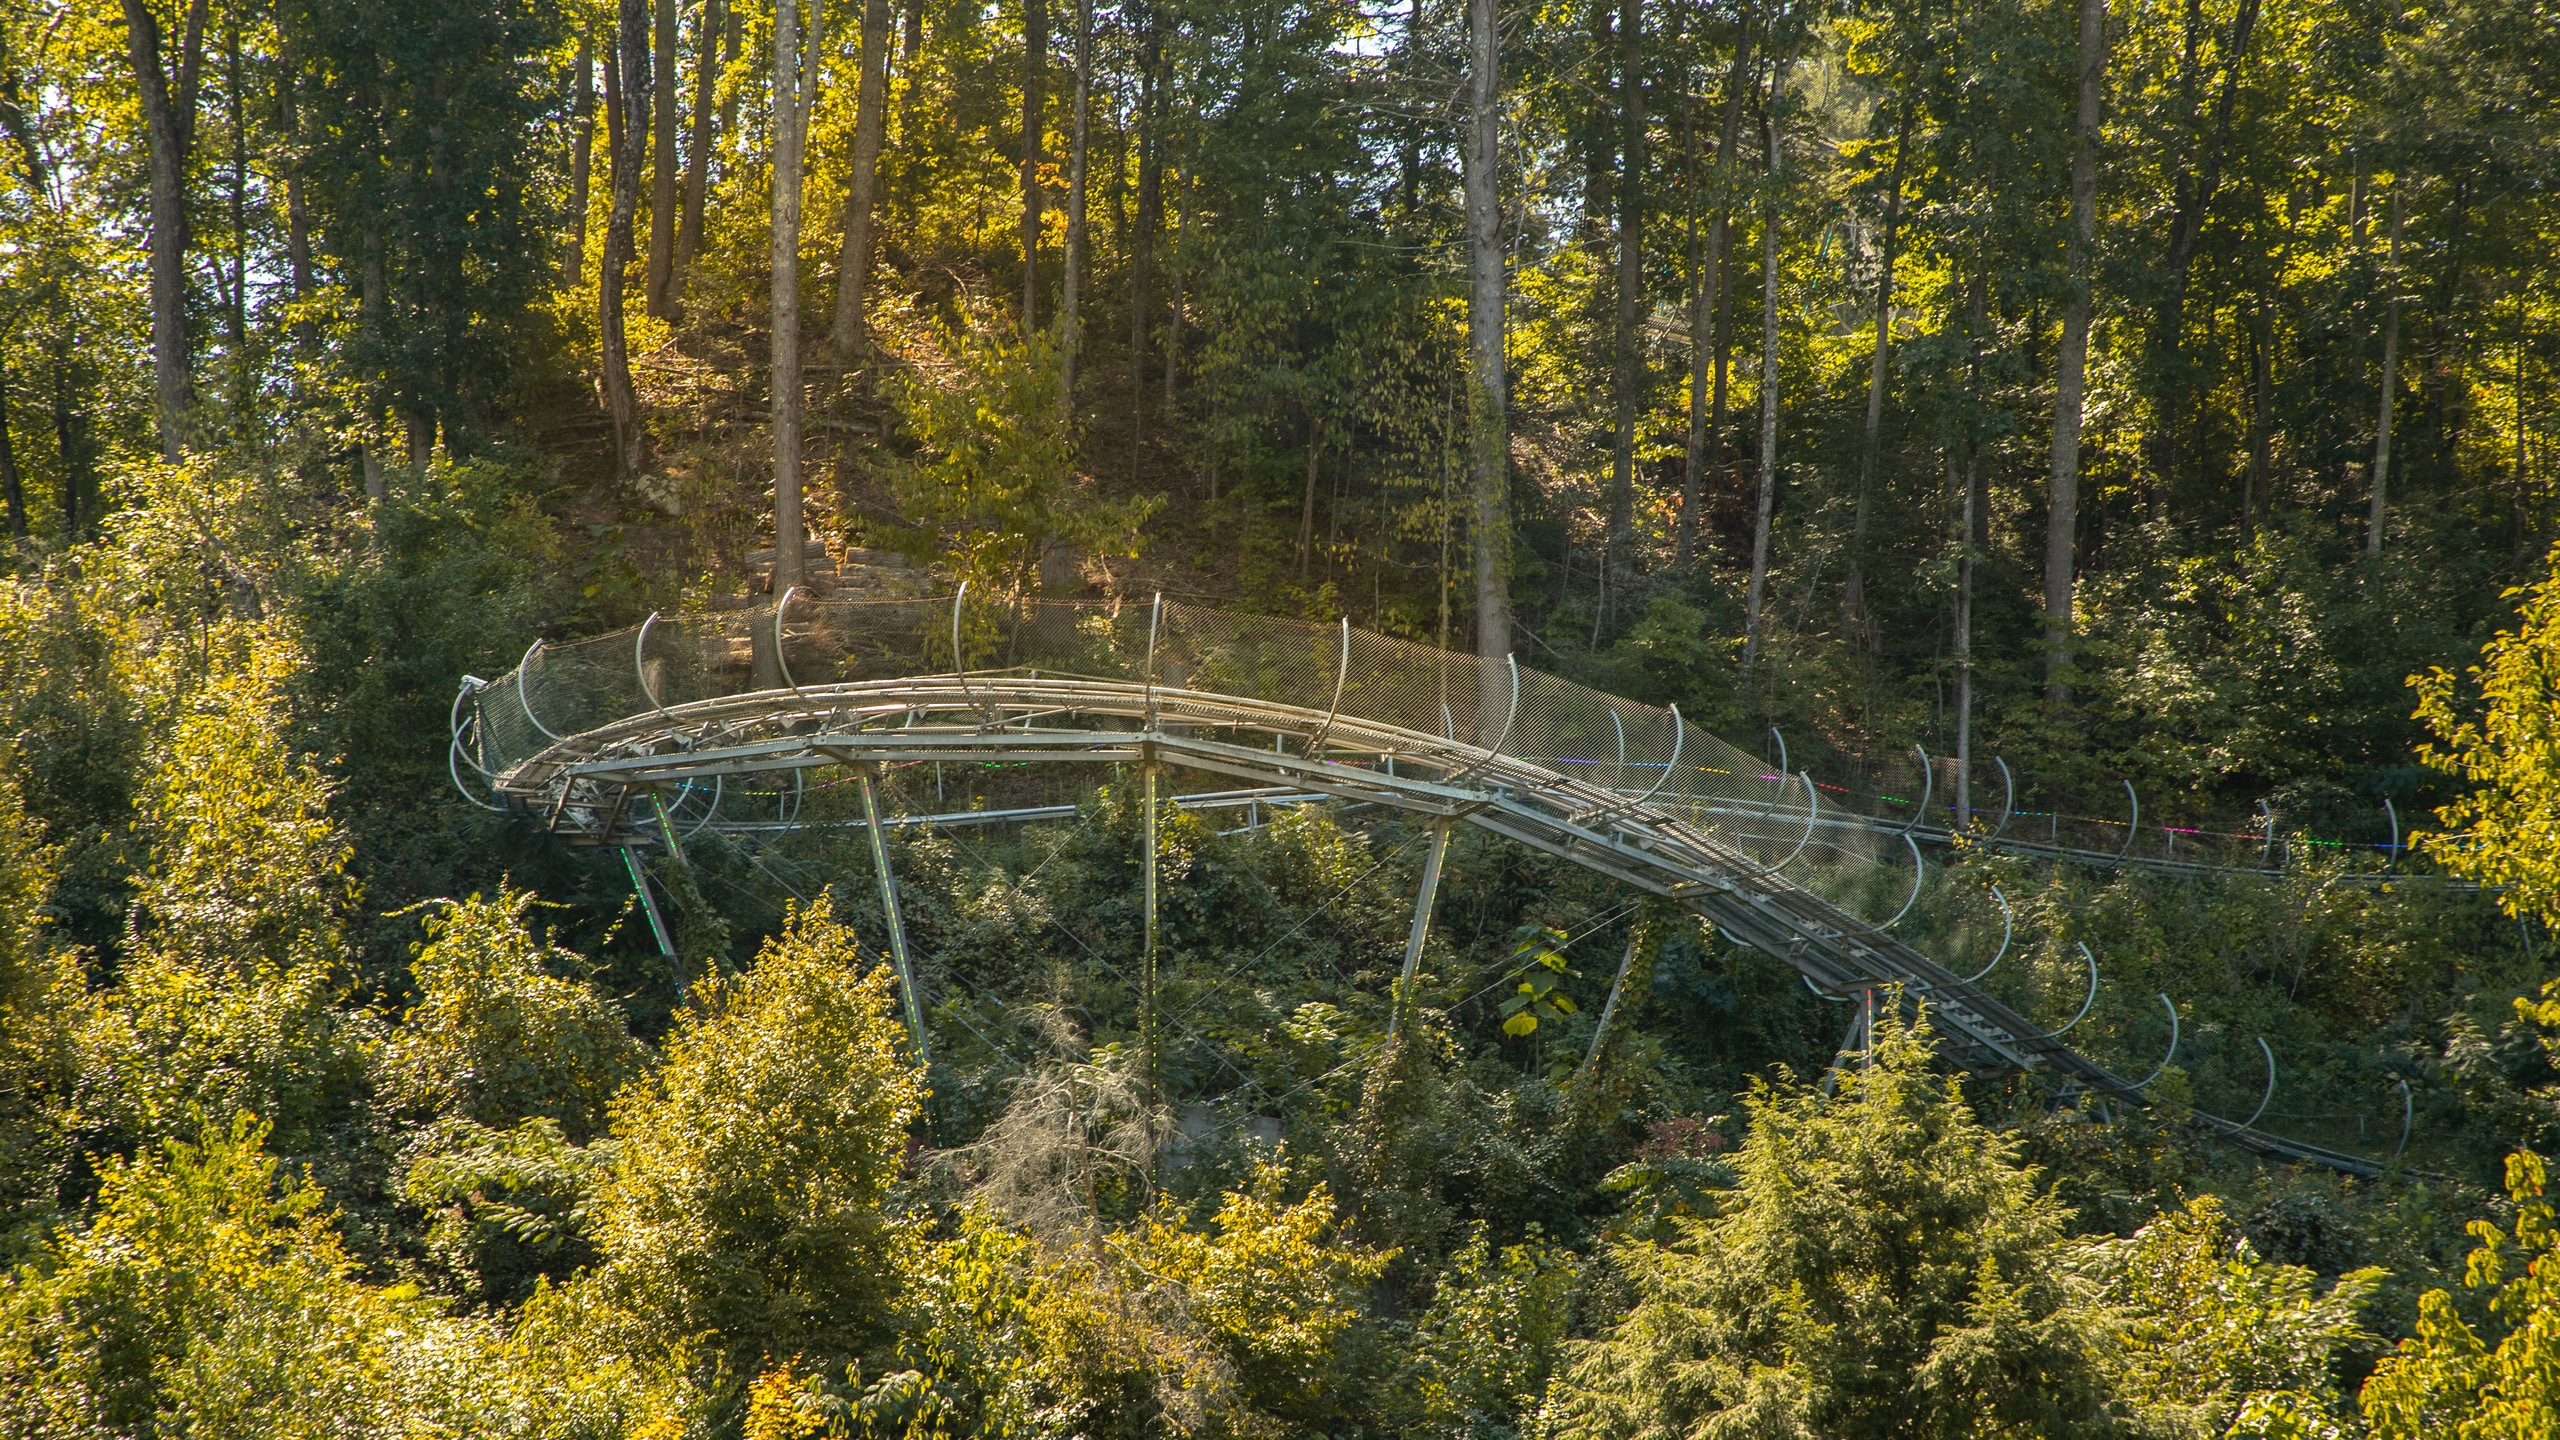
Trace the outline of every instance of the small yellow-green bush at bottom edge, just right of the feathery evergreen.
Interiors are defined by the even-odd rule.
[[[2363,1312],[2383,1271],[2322,1289],[2301,1266],[2260,1261],[2212,1197],[2099,1243],[2084,1266],[2122,1312],[2122,1394],[2176,1435],[2258,1435],[2245,1414],[2350,1422],[2335,1366],[2371,1340]]]

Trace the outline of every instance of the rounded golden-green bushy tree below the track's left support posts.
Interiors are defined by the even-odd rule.
[[[614,1097],[594,1284],[645,1345],[745,1384],[883,1338],[881,1199],[922,1102],[888,984],[819,897],[745,976],[696,986],[663,1063]]]

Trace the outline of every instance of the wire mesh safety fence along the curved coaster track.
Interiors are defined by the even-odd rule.
[[[1183,602],[1055,600],[819,600],[694,615],[538,643],[484,687],[458,753],[484,776],[556,740],[653,710],[763,689],[804,689],[929,674],[1029,674],[1144,682],[1162,692],[1244,697],[1495,751],[1574,781],[1600,807],[1646,805],[1789,863],[1800,879],[1871,884],[1907,874],[1905,835],[1951,833],[2143,863],[2286,863],[2294,838],[2260,810],[2214,822],[2145,812],[2132,787],[2112,797],[2056,794],[1999,756],[1958,766],[1923,748],[1851,753],[1772,730],[1761,753],[1713,735],[1672,707],[1641,705],[1569,679],[1441,651],[1349,625],[1231,615]],[[1306,740],[1306,738],[1300,738]],[[1364,764],[1326,728],[1329,758]],[[1385,761],[1385,756],[1375,756]],[[768,820],[791,789],[768,787]],[[727,797],[730,815],[742,797]],[[701,812],[691,789],[673,810]],[[2394,817],[2396,828],[2396,817]],[[2388,858],[2396,848],[2373,846]]]

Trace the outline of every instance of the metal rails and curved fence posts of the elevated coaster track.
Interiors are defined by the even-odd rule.
[[[573,725],[573,720],[545,715],[553,720],[545,725],[535,717],[538,710],[553,710],[545,705],[548,697],[535,692],[545,684],[543,676],[550,666],[561,664],[558,656],[566,653],[566,648],[545,653],[538,646],[527,651],[525,666],[499,682],[466,679],[463,697],[456,702],[453,756],[479,774],[494,805],[535,817],[563,840],[604,846],[673,843],[668,822],[650,825],[648,820],[663,815],[658,799],[678,789],[684,794],[704,789],[724,794],[745,792],[758,776],[783,779],[809,769],[845,769],[863,776],[868,799],[870,776],[878,776],[883,766],[911,761],[1185,769],[1272,797],[1334,797],[1377,805],[1439,828],[1467,822],[1608,874],[1646,894],[1667,897],[1702,915],[1728,938],[1789,963],[1823,994],[1851,999],[1897,989],[1905,1007],[1930,1007],[1948,1058],[1964,1068],[2030,1071],[2063,1092],[2148,1104],[2143,1092],[2148,1081],[2130,1081],[2109,1071],[1971,979],[1948,971],[1884,928],[1782,874],[1818,828],[1859,825],[1859,817],[1825,810],[1810,776],[1779,779],[1766,805],[1743,799],[1751,784],[1761,784],[1761,776],[1736,776],[1733,766],[1713,771],[1728,776],[1723,792],[1708,794],[1695,787],[1664,792],[1672,769],[1679,769],[1682,751],[1687,748],[1692,756],[1697,751],[1692,730],[1679,725],[1677,712],[1669,717],[1669,740],[1651,751],[1672,758],[1631,761],[1623,715],[1646,720],[1654,712],[1633,702],[1597,697],[1623,707],[1623,715],[1620,710],[1610,715],[1618,730],[1618,758],[1605,766],[1608,784],[1597,784],[1605,761],[1531,758],[1503,748],[1521,720],[1518,676],[1528,671],[1513,671],[1510,715],[1500,723],[1485,715],[1477,723],[1477,733],[1492,738],[1490,746],[1362,715],[1359,684],[1349,687],[1347,700],[1354,646],[1349,628],[1341,628],[1339,638],[1324,635],[1331,643],[1316,646],[1331,651],[1321,653],[1318,664],[1331,661],[1321,669],[1334,674],[1316,674],[1313,684],[1300,687],[1300,697],[1311,705],[1295,705],[1221,689],[1190,689],[1178,684],[1183,676],[1157,674],[1155,630],[1162,605],[1147,620],[1144,674],[1134,676],[945,669],[835,682],[812,679],[806,666],[788,666],[781,659],[786,646],[783,610],[788,610],[788,597],[783,607],[771,610],[771,620],[750,620],[750,625],[771,625],[771,653],[778,664],[768,674],[781,684],[758,687],[750,679],[745,687],[735,687],[730,682],[727,689],[735,692],[719,692],[724,684],[704,684],[701,689],[709,694],[696,700],[668,697],[663,674],[650,669],[648,630],[658,625],[658,618],[650,618],[635,643],[620,646],[614,638],[620,653],[627,656],[622,664],[630,666],[630,682],[612,687],[586,682],[586,707],[614,710],[620,705],[620,715],[566,733],[558,725]],[[801,602],[799,610],[814,610],[814,605]],[[1244,620],[1234,623],[1244,625]],[[763,635],[750,630],[748,638],[760,656]],[[952,602],[950,653],[965,653],[965,643],[960,605]],[[712,653],[722,664],[735,661],[732,651],[737,651],[735,638],[717,641],[714,635],[714,643],[701,646],[701,653]],[[1452,661],[1457,659],[1472,661],[1472,656]],[[571,682],[550,684],[568,687]],[[1272,684],[1283,687],[1283,682]],[[1446,692],[1449,682],[1441,684]],[[1541,679],[1541,684],[1562,682]],[[1457,689],[1457,694],[1467,692]],[[468,720],[463,717],[466,707],[471,710]],[[512,725],[509,710],[520,710],[530,720],[532,735],[497,738]],[[1446,702],[1441,702],[1441,717],[1444,730],[1457,730]],[[1567,774],[1569,764],[1587,766],[1595,776]],[[1628,779],[1631,769],[1649,764],[1661,764],[1664,774]],[[456,784],[463,784],[461,764],[453,769]],[[1800,807],[1787,802],[1797,781],[1805,789]],[[468,784],[463,789],[471,794]],[[794,787],[796,792],[799,787]],[[474,799],[492,805],[479,794]],[[771,822],[742,825],[783,828],[799,822],[799,815],[794,802],[788,820],[778,812]],[[707,810],[694,825],[709,820]],[[1772,861],[1754,853],[1756,833],[1728,828],[1728,820],[1766,822],[1779,830],[1800,828],[1800,835],[1769,846],[1784,851],[1784,858]],[[1930,828],[1915,820],[1864,820],[1864,825],[1889,835],[1897,851],[1917,838],[1933,838]],[[873,833],[878,830],[873,828]],[[1787,848],[1789,843],[1792,848]],[[886,853],[881,863],[886,879]],[[1428,902],[1426,887],[1416,925],[1426,922]],[[922,1025],[911,986],[906,999],[911,1022]],[[2086,1015],[2086,1004],[2081,1015]],[[2173,1007],[2171,1025],[2176,1025]],[[2268,1158],[2317,1163],[2358,1176],[2381,1171],[2365,1158],[2250,1125],[2209,1115],[2194,1115],[2194,1122]]]

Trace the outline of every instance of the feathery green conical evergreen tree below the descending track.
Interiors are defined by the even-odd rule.
[[[1633,1307],[1569,1348],[1559,1435],[2104,1435],[2068,1212],[1879,1004],[1836,1097],[1756,1086],[1741,1176],[1679,1240],[1610,1250]]]

